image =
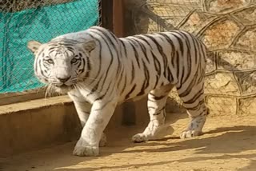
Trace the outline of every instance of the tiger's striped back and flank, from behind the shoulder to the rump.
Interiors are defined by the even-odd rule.
[[[119,40],[119,58],[125,65],[118,88],[125,85],[126,89],[121,90],[124,100],[142,96],[162,85],[187,89],[195,74],[204,76],[206,47],[191,34],[173,31]]]

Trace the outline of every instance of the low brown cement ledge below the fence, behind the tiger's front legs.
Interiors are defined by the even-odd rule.
[[[146,99],[125,106],[118,106],[106,131],[122,124],[147,124]],[[0,157],[74,141],[81,131],[74,105],[67,96],[2,105],[0,125]]]

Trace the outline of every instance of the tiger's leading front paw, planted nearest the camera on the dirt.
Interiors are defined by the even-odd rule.
[[[75,156],[98,156],[98,146],[89,145],[86,141],[80,139],[74,147]]]

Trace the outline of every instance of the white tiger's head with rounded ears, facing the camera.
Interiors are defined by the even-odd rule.
[[[76,42],[70,39],[45,44],[30,41],[27,44],[35,56],[34,74],[58,93],[67,93],[86,78],[91,67],[90,54],[95,46],[94,40]]]

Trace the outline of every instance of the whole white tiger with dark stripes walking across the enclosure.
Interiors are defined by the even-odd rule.
[[[97,156],[103,130],[122,101],[148,94],[150,123],[134,142],[152,140],[165,123],[166,98],[176,86],[190,116],[181,137],[202,133],[206,47],[192,34],[170,31],[117,38],[99,26],[28,42],[34,73],[41,82],[68,93],[83,129],[74,155]],[[88,109],[87,101],[92,105]],[[90,113],[90,114],[89,114]]]

